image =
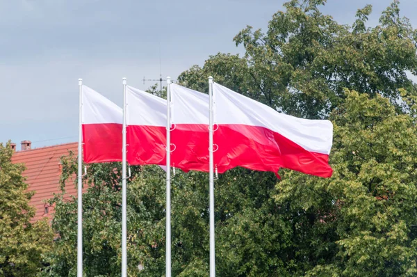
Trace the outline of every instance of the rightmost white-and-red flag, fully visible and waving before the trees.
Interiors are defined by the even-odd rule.
[[[329,120],[295,118],[213,83],[218,172],[242,166],[256,171],[289,168],[320,177],[332,176]]]

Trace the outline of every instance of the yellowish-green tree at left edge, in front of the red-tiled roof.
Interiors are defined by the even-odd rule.
[[[53,241],[46,220],[35,223],[29,205],[33,192],[26,191],[24,166],[12,164],[10,143],[0,143],[0,275],[35,276],[42,269],[42,255]]]

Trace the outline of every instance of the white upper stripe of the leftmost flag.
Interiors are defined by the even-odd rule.
[[[103,95],[83,85],[83,124],[123,122],[123,111]]]

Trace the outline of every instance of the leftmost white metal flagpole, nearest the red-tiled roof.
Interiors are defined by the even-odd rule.
[[[78,221],[76,243],[76,276],[83,277],[83,79],[79,79],[79,150],[78,150]]]

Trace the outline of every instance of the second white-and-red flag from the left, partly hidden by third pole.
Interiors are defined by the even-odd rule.
[[[126,86],[126,159],[131,165],[166,165],[167,101]]]

